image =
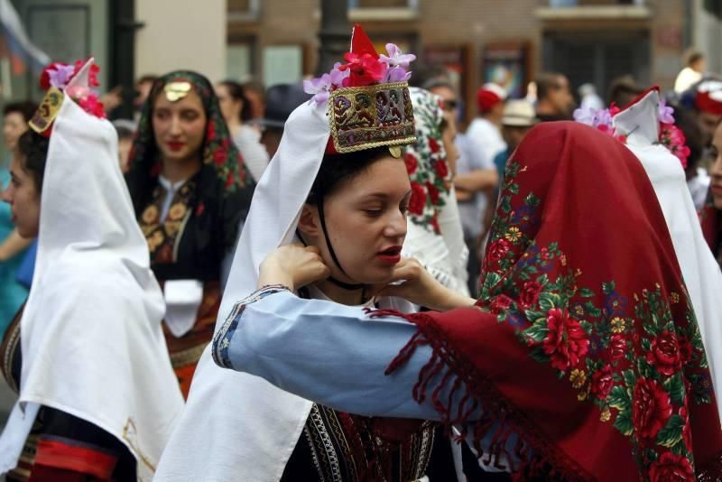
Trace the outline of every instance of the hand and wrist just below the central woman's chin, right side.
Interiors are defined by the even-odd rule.
[[[378,287],[375,296],[397,296],[432,310],[447,311],[473,306],[476,300],[449,290],[426,271],[414,258],[402,258],[389,283]]]

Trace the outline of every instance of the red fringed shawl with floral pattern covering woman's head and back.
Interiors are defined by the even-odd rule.
[[[418,401],[430,393],[449,423],[480,405],[475,436],[491,452],[518,433],[519,477],[720,477],[697,322],[652,185],[623,144],[587,125],[535,127],[507,164],[484,263],[476,309],[406,316],[419,330],[389,372],[430,345]],[[462,381],[460,403],[440,399]]]

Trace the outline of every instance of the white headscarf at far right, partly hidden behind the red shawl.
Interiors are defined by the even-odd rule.
[[[722,388],[722,272],[702,236],[680,160],[658,142],[659,104],[659,92],[651,90],[617,114],[613,122],[616,134],[627,134],[626,146],[642,162],[652,181],[690,293],[717,392]],[[717,410],[720,406],[718,399]],[[722,420],[722,410],[719,415]]]

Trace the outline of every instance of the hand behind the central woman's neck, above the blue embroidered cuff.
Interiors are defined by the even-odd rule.
[[[324,264],[318,247],[293,243],[280,246],[266,256],[259,269],[258,287],[282,284],[296,291],[329,274],[329,266]]]

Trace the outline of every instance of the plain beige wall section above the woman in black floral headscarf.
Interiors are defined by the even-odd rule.
[[[211,81],[226,75],[226,0],[135,0],[145,26],[135,37],[135,74],[190,69]]]

